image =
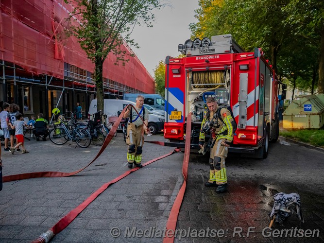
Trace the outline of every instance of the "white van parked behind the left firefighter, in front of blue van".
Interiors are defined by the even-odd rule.
[[[104,99],[103,114],[106,114],[108,117],[117,116],[118,111],[123,110],[128,104],[133,104],[134,106],[136,105],[136,103],[132,101]],[[88,114],[92,116],[92,114],[96,112],[97,99],[91,101]],[[163,130],[164,117],[156,114],[149,114],[148,127],[152,134],[156,134],[158,131]]]

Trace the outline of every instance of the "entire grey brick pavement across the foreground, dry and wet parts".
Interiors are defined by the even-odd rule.
[[[147,139],[164,140],[162,135]],[[26,141],[26,147],[29,154],[11,155],[2,146],[4,175],[76,171],[99,151],[93,145],[82,149],[75,144],[54,145],[49,140],[33,139]],[[128,171],[126,149],[118,134],[102,156],[76,176],[4,183],[0,191],[0,242],[37,239],[102,184]],[[145,143],[143,161],[172,150]],[[226,160],[228,191],[217,194],[215,188],[204,186],[209,174],[207,158],[191,155],[175,242],[323,242],[323,156],[324,153],[316,150],[279,142],[271,145],[264,160],[230,156]],[[182,161],[183,153],[173,154],[111,185],[51,242],[162,242],[158,230],[165,228],[183,183]],[[272,230],[265,229],[277,192],[300,194],[304,224],[292,215],[283,225],[274,223]],[[127,231],[133,227],[151,230],[150,237]],[[112,229],[116,228],[120,236],[114,238]],[[298,237],[288,232],[285,236],[288,229],[295,228],[319,234]],[[286,231],[277,237],[275,230]]]

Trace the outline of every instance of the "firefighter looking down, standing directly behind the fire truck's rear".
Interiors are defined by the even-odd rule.
[[[202,122],[199,135],[199,145],[202,149],[208,146],[205,142],[205,135],[211,136],[210,157],[209,157],[209,180],[206,187],[217,187],[216,192],[222,193],[227,188],[227,176],[225,168],[225,158],[228,147],[233,140],[234,118],[226,108],[221,108],[213,97],[206,99],[208,111]]]

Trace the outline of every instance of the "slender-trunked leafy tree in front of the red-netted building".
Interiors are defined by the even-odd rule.
[[[160,0],[65,0],[73,5],[69,30],[78,38],[81,48],[95,64],[94,80],[98,110],[103,110],[102,68],[108,53],[116,55],[116,65],[129,59],[120,47],[127,42],[138,47],[130,38],[136,24],[152,27],[153,9],[163,4]]]

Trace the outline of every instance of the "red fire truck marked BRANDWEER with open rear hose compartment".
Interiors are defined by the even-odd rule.
[[[232,35],[187,40],[183,58],[166,57],[166,146],[199,150],[206,98],[230,105],[238,124],[229,152],[265,158],[279,136],[278,79],[261,49],[244,52]],[[191,121],[187,121],[192,111]],[[191,134],[185,134],[191,122]]]

